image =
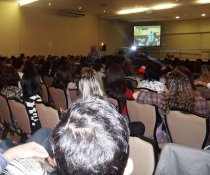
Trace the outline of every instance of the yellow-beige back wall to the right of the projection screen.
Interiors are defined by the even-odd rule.
[[[210,59],[210,19],[167,21],[162,25],[161,47],[155,56],[167,54],[182,59]]]

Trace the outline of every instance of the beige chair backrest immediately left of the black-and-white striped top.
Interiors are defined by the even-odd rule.
[[[14,116],[15,119],[17,120],[18,126],[21,128],[23,133],[30,134],[31,126],[25,105],[22,102],[17,101],[15,99],[8,99],[7,101],[12,116]]]

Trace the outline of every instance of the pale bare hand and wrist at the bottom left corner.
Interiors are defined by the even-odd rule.
[[[18,145],[13,148],[6,150],[3,155],[7,158],[7,160],[13,160],[17,158],[42,158],[45,159],[49,157],[49,154],[45,150],[45,148],[39,145],[36,142],[30,142],[23,145]]]

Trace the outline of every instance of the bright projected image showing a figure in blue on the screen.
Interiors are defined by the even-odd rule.
[[[134,26],[134,44],[136,46],[160,46],[161,26]]]

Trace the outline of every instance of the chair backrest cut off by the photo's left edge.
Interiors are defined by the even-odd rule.
[[[12,119],[11,119],[7,99],[3,95],[0,95],[0,114],[1,114],[1,119],[3,120],[3,123],[12,124]]]

